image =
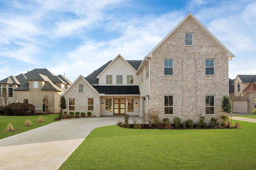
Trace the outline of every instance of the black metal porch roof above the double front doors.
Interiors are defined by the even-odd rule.
[[[139,95],[139,86],[94,86],[100,94]]]

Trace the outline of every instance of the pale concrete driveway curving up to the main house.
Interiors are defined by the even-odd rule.
[[[0,169],[57,170],[93,129],[118,121],[124,116],[70,119],[0,139]]]

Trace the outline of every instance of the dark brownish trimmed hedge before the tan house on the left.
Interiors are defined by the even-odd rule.
[[[7,116],[27,116],[35,115],[36,107],[28,103],[11,103],[3,107],[4,115]]]

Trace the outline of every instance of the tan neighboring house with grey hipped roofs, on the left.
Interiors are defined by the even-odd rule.
[[[34,69],[25,74],[10,76],[0,81],[0,105],[10,103],[30,103],[36,113],[43,113],[42,100],[48,95],[50,113],[58,113],[60,95],[72,84],[62,75],[55,76],[46,68]]]

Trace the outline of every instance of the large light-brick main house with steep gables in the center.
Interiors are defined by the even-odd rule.
[[[234,55],[189,13],[142,61],[118,55],[64,92],[68,111],[220,119]]]

